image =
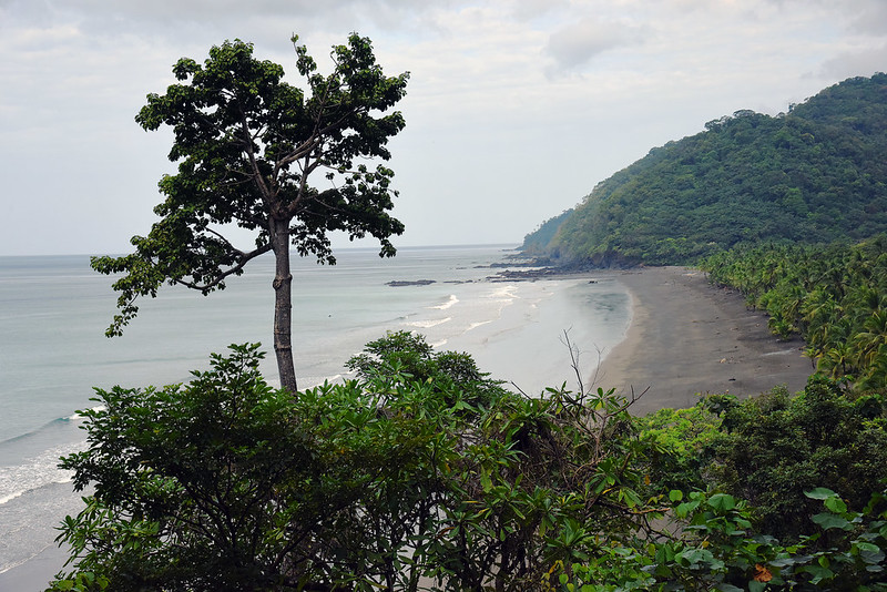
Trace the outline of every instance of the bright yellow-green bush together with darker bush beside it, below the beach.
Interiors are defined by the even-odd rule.
[[[818,530],[806,491],[842,491],[860,511],[887,479],[887,400],[848,397],[822,376],[794,396],[784,387],[743,401],[716,395],[638,421],[654,445],[654,488],[726,491],[750,503],[755,530],[783,541]]]

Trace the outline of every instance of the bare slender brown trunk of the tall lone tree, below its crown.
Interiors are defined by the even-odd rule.
[[[293,274],[289,269],[289,221],[271,221],[271,242],[276,259],[274,274],[274,353],[281,387],[295,394],[296,368],[293,363]]]

